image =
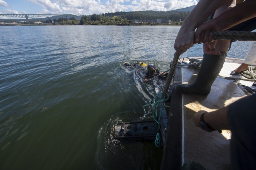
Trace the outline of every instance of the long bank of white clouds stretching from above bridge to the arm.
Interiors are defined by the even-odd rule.
[[[2,2],[3,0],[0,0]],[[43,13],[99,14],[118,11],[170,11],[197,4],[197,0],[28,0],[44,8]],[[54,3],[52,3],[52,2]],[[106,1],[105,3],[103,3]],[[4,1],[3,1],[4,2]],[[129,2],[130,5],[123,3]],[[104,4],[104,5],[102,5]],[[126,3],[127,4],[127,3]]]

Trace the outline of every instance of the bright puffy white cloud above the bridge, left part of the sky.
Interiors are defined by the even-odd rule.
[[[52,3],[50,0],[30,0],[31,2],[46,8],[43,12],[47,13],[62,13],[59,5],[57,3]]]

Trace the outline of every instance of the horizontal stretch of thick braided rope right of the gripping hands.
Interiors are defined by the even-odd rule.
[[[256,41],[256,32],[249,32],[249,31],[213,31],[211,33],[212,33],[215,40]]]

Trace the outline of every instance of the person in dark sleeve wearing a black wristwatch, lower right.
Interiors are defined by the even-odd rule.
[[[208,132],[231,130],[231,169],[256,168],[256,94],[244,97],[221,109],[200,110],[193,116],[196,126]]]

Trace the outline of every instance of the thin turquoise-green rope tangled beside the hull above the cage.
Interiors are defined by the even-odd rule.
[[[152,100],[149,104],[146,104],[146,105],[143,106],[145,115],[147,115],[147,112],[146,112],[146,110],[145,110],[145,107],[148,106],[148,105],[150,105],[150,104],[152,104],[152,103],[154,103],[152,114],[153,114],[154,120],[155,120],[156,123],[158,124],[158,131],[160,130],[160,119],[161,119],[161,114],[162,114],[162,109],[163,109],[163,106],[164,106],[164,102],[165,102],[166,100],[168,100],[168,98],[169,98],[168,93],[166,93],[165,96],[163,96],[163,99],[162,99],[162,100],[155,101],[155,100],[156,100],[156,97],[157,97],[158,95],[160,95],[160,94],[162,94],[162,92],[158,93],[158,94],[153,98],[153,100]],[[160,110],[160,113],[159,113],[159,120],[157,120],[157,119],[158,119],[158,118],[157,118],[157,115],[158,115],[158,109],[157,109],[157,108],[158,108],[158,105],[160,104],[160,102],[162,102],[162,106],[161,106],[161,110]],[[156,145],[157,147],[160,147],[160,133],[159,133],[159,132],[156,134],[155,145]]]

